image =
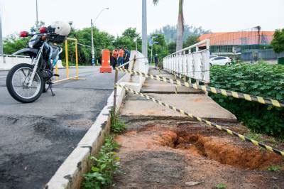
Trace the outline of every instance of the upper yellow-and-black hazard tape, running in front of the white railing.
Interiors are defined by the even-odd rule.
[[[234,92],[234,91],[230,91],[230,90],[218,89],[216,87],[210,87],[210,86],[206,86],[206,85],[197,85],[196,83],[190,83],[190,82],[185,82],[185,81],[180,81],[180,80],[173,80],[173,79],[170,79],[168,77],[163,77],[163,76],[159,76],[159,75],[149,75],[145,72],[136,72],[136,71],[126,70],[124,68],[116,68],[116,70],[128,72],[132,75],[141,75],[141,76],[146,77],[146,78],[151,78],[153,80],[158,80],[158,81],[161,81],[161,82],[168,82],[168,83],[172,83],[172,84],[175,84],[175,85],[178,85],[178,86],[194,88],[196,90],[202,90],[204,92],[212,92],[214,94],[221,94],[221,95],[226,96],[226,97],[234,97],[236,99],[245,99],[245,100],[251,101],[251,102],[258,102],[258,103],[261,103],[261,104],[273,105],[274,107],[284,107],[284,102],[276,100],[276,99],[258,97],[258,96],[244,94],[244,93],[241,93],[241,92]]]

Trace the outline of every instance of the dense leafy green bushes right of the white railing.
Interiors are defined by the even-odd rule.
[[[251,95],[284,99],[284,66],[261,64],[214,65],[210,68],[210,85]],[[284,109],[248,102],[244,99],[210,94],[222,107],[254,131],[272,136],[284,132]]]

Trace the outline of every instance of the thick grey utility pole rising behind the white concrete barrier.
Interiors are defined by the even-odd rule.
[[[142,0],[142,54],[148,58],[147,1]]]

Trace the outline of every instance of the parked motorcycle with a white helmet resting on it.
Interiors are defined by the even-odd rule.
[[[34,102],[43,92],[50,89],[52,95],[53,69],[58,63],[63,43],[70,33],[69,24],[55,22],[52,26],[39,28],[39,33],[28,33],[22,31],[20,36],[25,38],[31,36],[28,48],[18,50],[13,55],[27,54],[31,58],[31,64],[20,63],[9,71],[6,77],[6,87],[10,95],[18,102]],[[62,35],[63,34],[63,35]],[[46,87],[48,86],[48,87]]]

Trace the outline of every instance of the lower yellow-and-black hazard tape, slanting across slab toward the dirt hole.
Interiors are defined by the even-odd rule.
[[[222,126],[219,126],[218,124],[214,124],[211,121],[207,121],[207,120],[202,119],[200,117],[196,117],[195,115],[187,113],[187,112],[183,111],[182,109],[178,109],[178,108],[173,107],[173,106],[171,106],[171,105],[169,105],[169,104],[167,104],[165,102],[161,102],[158,99],[154,99],[153,97],[149,97],[148,95],[144,95],[141,92],[136,92],[135,90],[132,90],[129,87],[125,87],[124,85],[120,85],[120,84],[116,83],[116,85],[114,87],[117,87],[117,86],[121,87],[121,88],[124,88],[126,91],[129,91],[129,92],[131,92],[131,93],[133,93],[135,95],[140,95],[141,97],[145,97],[146,99],[151,99],[153,102],[155,102],[157,104],[160,104],[160,105],[162,105],[164,107],[168,107],[170,109],[173,109],[175,112],[180,112],[181,114],[184,114],[184,115],[189,116],[191,118],[197,119],[198,121],[203,122],[203,123],[205,123],[205,124],[207,124],[209,126],[214,126],[216,129],[219,129],[220,131],[226,131],[226,133],[228,133],[228,134],[231,134],[233,136],[238,136],[239,139],[241,139],[243,141],[249,141],[252,144],[254,144],[255,146],[261,146],[262,148],[266,148],[266,150],[268,150],[268,151],[277,153],[280,156],[284,156],[284,151],[280,151],[280,150],[275,149],[275,148],[273,148],[271,146],[267,146],[266,144],[262,144],[262,143],[260,143],[258,141],[253,140],[253,139],[249,139],[248,137],[246,137],[246,136],[244,136],[242,134],[238,134],[238,133],[236,133],[234,131],[231,131],[231,130],[226,129],[226,128],[222,127]]]

